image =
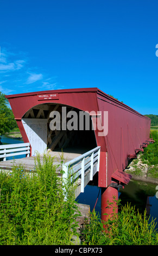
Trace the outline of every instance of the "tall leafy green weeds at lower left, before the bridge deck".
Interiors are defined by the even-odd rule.
[[[79,211],[74,193],[65,199],[67,184],[53,161],[48,154],[41,161],[37,154],[29,173],[22,166],[0,173],[0,245],[73,244]]]

